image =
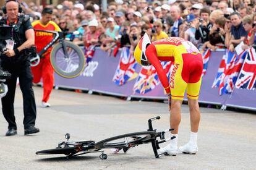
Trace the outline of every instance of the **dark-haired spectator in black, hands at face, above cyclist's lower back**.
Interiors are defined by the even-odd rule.
[[[210,9],[203,8],[200,11],[200,19],[195,25],[197,30],[195,30],[195,40],[199,40],[201,38],[202,43],[205,43],[206,41],[209,41],[209,33],[211,30],[211,27],[213,27],[213,24],[210,22]]]

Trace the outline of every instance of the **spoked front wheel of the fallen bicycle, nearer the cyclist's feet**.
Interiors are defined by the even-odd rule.
[[[95,148],[126,148],[134,147],[143,143],[150,142],[155,138],[157,132],[134,132],[130,134],[118,135],[116,137],[106,138],[95,144]]]

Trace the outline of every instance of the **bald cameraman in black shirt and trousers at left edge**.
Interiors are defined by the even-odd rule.
[[[23,96],[24,134],[35,134],[39,132],[39,129],[35,127],[36,105],[32,89],[33,76],[26,50],[35,44],[35,35],[29,17],[19,14],[19,11],[21,11],[19,2],[7,0],[5,7],[7,15],[1,20],[1,23],[12,27],[12,40],[10,41],[14,45],[4,51],[1,56],[2,68],[11,73],[11,79],[6,80],[9,91],[2,98],[2,113],[9,124],[6,136],[17,134],[14,116],[14,96],[18,77]]]

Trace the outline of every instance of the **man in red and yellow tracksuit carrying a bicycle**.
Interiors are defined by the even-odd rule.
[[[61,32],[61,28],[59,28],[55,22],[51,21],[52,14],[53,10],[45,7],[42,11],[41,19],[32,23],[33,28],[36,30],[51,30]],[[46,45],[49,44],[51,40],[53,40],[52,33],[35,31],[36,52],[39,53],[43,48],[45,48]],[[43,54],[43,58],[41,58],[38,66],[32,67],[32,73],[34,76],[33,82],[39,83],[41,78],[43,79],[43,99],[41,103],[43,108],[51,106],[48,103],[54,83],[54,70],[51,66],[49,58],[51,49],[52,48],[49,48],[45,54]]]

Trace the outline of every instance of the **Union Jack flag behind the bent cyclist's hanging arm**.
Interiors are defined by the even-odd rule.
[[[172,62],[162,61],[161,65],[165,70],[167,76],[169,77],[170,68]],[[160,83],[155,67],[147,66],[142,67],[140,70],[139,76],[134,84],[134,92],[139,94],[148,93],[148,91],[153,90],[156,85]]]

